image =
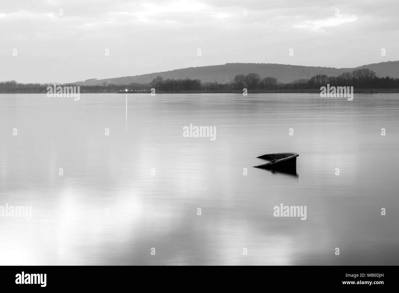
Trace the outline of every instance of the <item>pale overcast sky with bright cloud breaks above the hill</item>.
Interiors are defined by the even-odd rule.
[[[393,61],[398,8],[396,0],[1,0],[0,81],[67,83],[234,62]]]

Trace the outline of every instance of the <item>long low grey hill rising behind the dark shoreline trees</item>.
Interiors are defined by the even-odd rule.
[[[136,76],[115,77],[110,79],[87,79],[79,81],[75,85],[129,85],[130,83],[148,84],[157,76],[167,78],[190,78],[200,79],[203,83],[217,81],[218,83],[229,83],[233,81],[236,74],[258,73],[263,77],[276,77],[280,83],[292,82],[296,79],[308,79],[316,74],[328,76],[340,75],[346,71],[353,71],[358,68],[369,68],[375,71],[378,77],[389,76],[399,77],[399,61],[387,61],[381,63],[367,64],[355,68],[334,68],[334,67],[311,67],[298,65],[284,65],[271,63],[226,63],[225,65],[213,65],[203,67],[190,67],[175,69],[172,71],[149,73]]]

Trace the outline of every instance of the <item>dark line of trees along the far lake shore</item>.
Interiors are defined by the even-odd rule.
[[[160,91],[179,92],[187,90],[242,90],[247,89],[320,89],[326,86],[354,87],[354,88],[399,88],[399,78],[377,77],[375,72],[368,68],[355,69],[338,76],[314,75],[310,79],[298,79],[292,83],[279,83],[275,77],[261,78],[257,73],[247,75],[237,74],[229,83],[201,83],[199,79],[164,79],[156,77],[150,84],[130,83],[129,85],[103,84],[102,86],[80,86],[80,92],[119,92],[128,88],[136,92],[148,91],[155,88]],[[73,86],[64,84],[60,86]],[[0,92],[47,92],[52,84],[17,83],[16,81],[0,82]],[[57,84],[58,86],[58,84]]]

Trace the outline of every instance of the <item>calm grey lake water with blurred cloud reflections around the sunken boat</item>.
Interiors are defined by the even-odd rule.
[[[398,94],[2,94],[0,265],[399,265],[398,149]]]

